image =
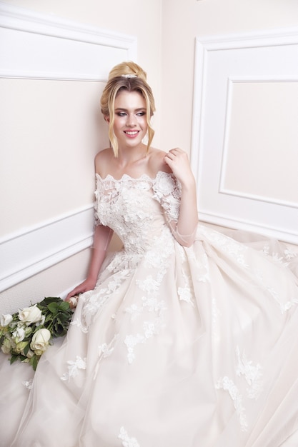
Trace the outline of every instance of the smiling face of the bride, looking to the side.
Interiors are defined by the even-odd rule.
[[[137,91],[121,90],[115,99],[114,134],[121,147],[136,147],[147,132],[146,101]]]

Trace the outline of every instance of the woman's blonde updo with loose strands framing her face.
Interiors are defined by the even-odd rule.
[[[114,152],[118,156],[118,141],[114,134],[115,119],[115,99],[119,91],[137,91],[146,101],[146,121],[148,125],[148,143],[147,152],[152,144],[154,130],[152,129],[150,119],[155,111],[154,96],[152,89],[147,84],[146,72],[134,62],[122,62],[114,66],[109,72],[109,79],[101,95],[101,113],[105,118],[109,118],[109,140]]]

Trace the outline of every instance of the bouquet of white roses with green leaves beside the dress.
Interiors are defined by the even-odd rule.
[[[48,297],[18,312],[1,315],[0,347],[16,360],[29,363],[34,371],[52,338],[64,336],[71,322],[69,303],[61,298]]]

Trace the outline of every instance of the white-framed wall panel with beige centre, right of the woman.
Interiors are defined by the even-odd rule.
[[[196,40],[199,219],[298,243],[298,29]]]

